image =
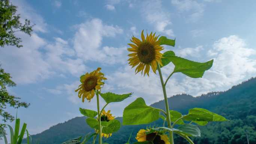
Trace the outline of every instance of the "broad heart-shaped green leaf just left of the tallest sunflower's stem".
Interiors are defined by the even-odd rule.
[[[147,106],[143,98],[137,98],[124,109],[123,125],[148,124],[160,117],[160,111]]]

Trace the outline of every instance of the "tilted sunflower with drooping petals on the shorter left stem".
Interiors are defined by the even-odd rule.
[[[82,101],[85,101],[85,98],[90,102],[94,97],[95,91],[100,90],[101,86],[104,85],[102,80],[106,80],[104,74],[100,72],[101,68],[97,68],[97,70],[92,71],[91,73],[86,73],[80,77],[79,88],[75,91],[78,92],[78,97],[81,98]]]

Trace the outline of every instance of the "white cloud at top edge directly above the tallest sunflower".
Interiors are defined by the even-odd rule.
[[[173,30],[169,27],[172,23],[170,20],[170,13],[163,9],[160,0],[143,1],[141,9],[142,17],[155,26],[159,32],[167,34],[167,36],[174,36]]]

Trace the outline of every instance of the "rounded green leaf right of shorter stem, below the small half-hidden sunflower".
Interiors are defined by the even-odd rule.
[[[104,134],[112,134],[120,129],[121,123],[119,120],[113,119],[107,122],[107,125],[102,128]]]

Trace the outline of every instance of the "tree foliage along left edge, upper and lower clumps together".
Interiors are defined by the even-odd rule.
[[[20,37],[16,37],[15,33],[20,31],[22,33],[31,36],[32,27],[30,21],[25,19],[24,24],[20,21],[20,15],[16,14],[17,6],[12,5],[9,0],[0,0],[0,46],[16,46],[22,47]],[[1,65],[0,65],[1,66]],[[7,92],[6,86],[12,87],[16,84],[11,80],[9,73],[4,72],[4,69],[0,67],[0,117],[3,122],[12,122],[15,117],[6,111],[6,107],[25,107],[29,104],[26,102],[20,102],[18,97],[10,95]],[[0,123],[0,127],[3,125]],[[0,134],[1,139],[1,134]]]

